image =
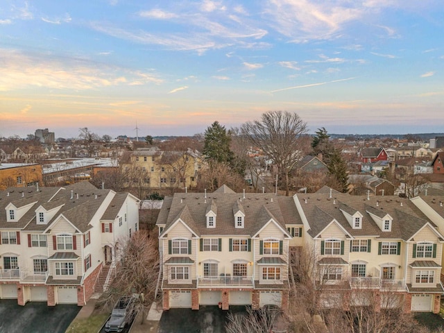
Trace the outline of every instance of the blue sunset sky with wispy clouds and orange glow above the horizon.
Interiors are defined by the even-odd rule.
[[[0,137],[444,132],[442,0],[1,0]],[[138,130],[135,130],[135,128]]]

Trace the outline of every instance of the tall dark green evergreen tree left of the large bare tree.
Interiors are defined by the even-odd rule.
[[[210,162],[232,162],[234,153],[230,149],[231,137],[225,130],[225,126],[221,126],[219,121],[214,121],[212,126],[205,130],[204,138],[203,154]]]

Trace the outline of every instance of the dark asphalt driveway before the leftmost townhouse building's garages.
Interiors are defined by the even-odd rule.
[[[28,302],[24,307],[17,300],[0,300],[0,333],[64,333],[81,307]]]

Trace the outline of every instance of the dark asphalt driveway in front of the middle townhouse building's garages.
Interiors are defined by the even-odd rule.
[[[230,307],[233,313],[246,312],[245,307]],[[158,333],[225,333],[225,322],[230,311],[217,306],[191,309],[169,309],[160,318]]]

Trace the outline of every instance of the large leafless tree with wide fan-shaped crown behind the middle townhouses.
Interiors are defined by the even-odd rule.
[[[296,113],[269,111],[260,120],[248,121],[241,126],[243,135],[252,146],[259,148],[278,166],[284,178],[285,195],[289,195],[289,173],[309,149],[302,145],[307,123]]]

